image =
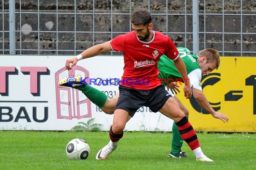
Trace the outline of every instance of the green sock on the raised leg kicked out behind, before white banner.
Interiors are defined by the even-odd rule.
[[[79,90],[82,91],[84,95],[98,107],[101,108],[105,105],[107,96],[102,91],[95,89],[90,85],[84,85],[82,87],[79,87]]]

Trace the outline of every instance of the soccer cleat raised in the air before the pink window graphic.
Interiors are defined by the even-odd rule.
[[[85,81],[83,80],[82,76],[66,76],[63,77],[59,82],[58,85],[66,86],[66,87],[71,87],[74,89],[78,89],[81,86],[86,85]]]

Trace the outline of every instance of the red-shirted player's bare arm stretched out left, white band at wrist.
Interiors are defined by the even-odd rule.
[[[71,58],[71,59],[67,59],[66,60],[66,69],[70,70],[75,64],[77,64],[77,61],[79,61],[80,59],[86,59],[86,58],[90,58],[96,55],[99,55],[103,52],[107,52],[107,51],[111,51],[111,47],[110,47],[110,41],[106,42],[106,43],[102,43],[102,44],[97,44],[93,47],[88,48],[87,50],[83,51],[80,55]]]

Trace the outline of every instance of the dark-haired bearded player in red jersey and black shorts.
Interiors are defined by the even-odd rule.
[[[110,142],[99,150],[96,159],[106,159],[116,149],[118,141],[123,137],[123,130],[128,120],[141,106],[148,106],[150,110],[159,111],[174,120],[181,137],[194,152],[196,160],[212,161],[203,154],[194,128],[178,103],[169,95],[158,79],[157,62],[164,54],[173,60],[185,81],[183,89],[185,97],[191,97],[191,87],[190,82],[187,81],[189,79],[185,64],[179,57],[177,48],[168,36],[152,30],[152,17],[147,10],[137,9],[134,11],[131,22],[132,32],[90,47],[80,55],[66,60],[66,69],[70,70],[80,59],[112,50],[124,53],[124,74],[119,85],[119,98],[115,106],[113,124],[110,127]],[[79,85],[73,87],[79,89]]]

